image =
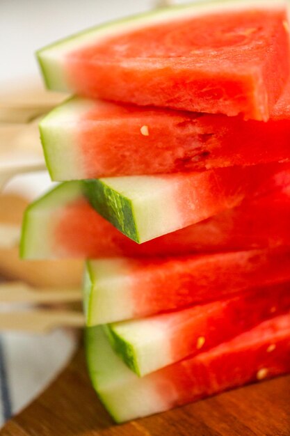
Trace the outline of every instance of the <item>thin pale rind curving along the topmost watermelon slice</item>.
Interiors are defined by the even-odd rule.
[[[70,91],[65,77],[65,68],[62,62],[67,53],[74,51],[79,47],[88,47],[90,44],[102,40],[102,38],[111,38],[124,32],[145,28],[146,26],[158,25],[169,20],[179,20],[184,17],[188,18],[193,13],[194,16],[214,13],[215,11],[225,10],[243,10],[243,8],[262,7],[262,8],[279,8],[285,4],[283,0],[211,0],[199,1],[185,5],[175,5],[166,8],[159,8],[150,12],[140,13],[131,17],[125,17],[120,20],[94,26],[72,36],[58,40],[51,45],[42,47],[36,52],[36,57],[40,65],[42,77],[45,85],[49,89],[56,91]],[[52,55],[52,56],[51,56]],[[58,56],[57,56],[58,55]],[[61,56],[59,56],[61,55]],[[48,56],[48,59],[47,59]],[[50,56],[50,58],[49,58]]]

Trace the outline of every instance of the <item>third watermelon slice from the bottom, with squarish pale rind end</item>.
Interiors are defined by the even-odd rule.
[[[142,318],[288,280],[289,249],[89,260],[84,286],[86,324]]]

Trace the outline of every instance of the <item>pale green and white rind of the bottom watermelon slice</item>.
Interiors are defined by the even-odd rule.
[[[163,412],[169,395],[161,396],[154,380],[140,379],[115,355],[102,327],[87,334],[87,358],[92,383],[115,421],[129,421]]]

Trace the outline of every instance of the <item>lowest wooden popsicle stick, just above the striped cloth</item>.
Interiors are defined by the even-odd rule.
[[[37,309],[0,312],[0,331],[47,333],[58,327],[81,328],[83,325],[83,313],[78,311]]]

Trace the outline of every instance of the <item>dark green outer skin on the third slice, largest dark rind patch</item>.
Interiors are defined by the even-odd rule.
[[[92,207],[120,232],[140,243],[132,201],[101,179],[83,181],[83,192]]]

